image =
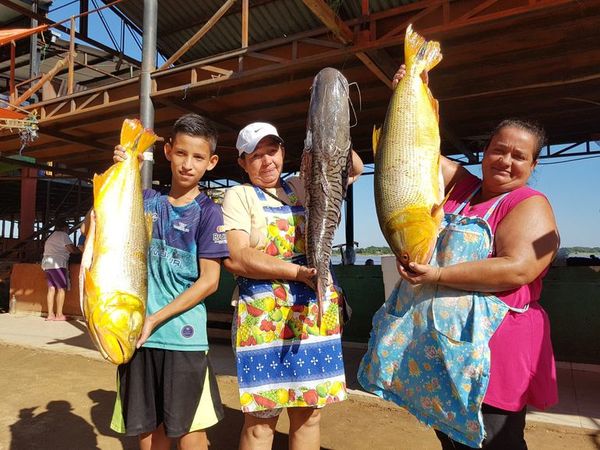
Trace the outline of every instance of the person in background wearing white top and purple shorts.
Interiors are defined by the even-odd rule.
[[[46,274],[48,292],[46,302],[48,315],[46,320],[67,320],[63,314],[65,293],[69,286],[69,256],[79,253],[79,250],[67,234],[67,223],[58,219],[54,224],[54,232],[44,243],[44,256],[42,257],[42,270]],[[54,303],[56,300],[56,314]]]

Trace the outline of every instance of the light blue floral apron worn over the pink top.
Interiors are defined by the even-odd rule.
[[[475,195],[446,214],[431,258],[444,267],[485,259],[493,236],[483,218],[460,215]],[[506,195],[506,194],[505,194]],[[455,441],[481,447],[481,404],[489,383],[489,340],[510,308],[494,295],[398,282],[373,317],[358,373],[368,391],[405,407]]]

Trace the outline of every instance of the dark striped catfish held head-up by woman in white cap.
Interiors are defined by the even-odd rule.
[[[317,269],[317,294],[330,284],[333,236],[340,222],[351,164],[348,81],[330,67],[313,80],[302,154],[306,191],[306,256]]]

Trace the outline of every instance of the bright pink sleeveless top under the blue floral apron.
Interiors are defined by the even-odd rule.
[[[452,190],[444,205],[452,213],[481,184],[469,174]],[[498,224],[520,202],[542,193],[528,186],[510,192],[488,219],[492,233]],[[495,198],[475,205],[467,204],[461,215],[483,217]],[[493,256],[493,255],[492,255]],[[550,341],[550,324],[539,305],[544,270],[531,283],[519,288],[497,292],[507,305],[529,309],[524,313],[509,311],[490,340],[490,382],[484,403],[508,411],[520,411],[527,404],[546,409],[558,401],[554,353]]]

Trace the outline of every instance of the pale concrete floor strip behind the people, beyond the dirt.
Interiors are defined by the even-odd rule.
[[[0,314],[0,342],[102,360],[81,320],[47,322],[39,316]],[[361,390],[356,380],[363,353],[362,346],[344,346],[346,378],[353,393],[371,396]],[[211,339],[210,354],[217,374],[235,376],[229,341]],[[600,366],[559,362],[557,376],[559,403],[544,412],[531,410],[527,420],[599,431]]]

